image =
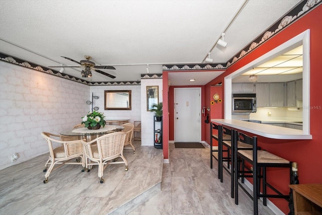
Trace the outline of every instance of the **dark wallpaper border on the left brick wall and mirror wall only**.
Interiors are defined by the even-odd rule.
[[[52,70],[50,68],[47,68],[45,66],[42,65],[38,65],[32,62],[28,62],[26,60],[20,59],[18,57],[13,57],[10,56],[8,54],[2,53],[0,52],[0,60],[7,62],[7,63],[11,63],[11,64],[15,64],[15,65],[19,65],[22,67],[27,67],[30,69],[34,69],[37,71],[40,71],[42,73],[46,73],[49,75],[53,75],[53,76],[57,76],[60,78],[64,78],[64,79],[68,79],[70,81],[74,81],[74,82],[78,82],[78,83],[82,83],[85,85],[90,85],[90,86],[105,86],[105,85],[140,85],[141,82],[139,81],[124,81],[124,82],[89,82],[89,81],[85,81],[83,79],[79,79],[76,78],[74,76],[70,76],[64,73],[59,73],[59,71],[57,70]]]

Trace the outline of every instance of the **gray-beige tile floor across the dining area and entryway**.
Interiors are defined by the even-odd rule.
[[[234,204],[229,175],[224,171],[223,183],[217,178],[217,161],[210,169],[209,148],[175,149],[170,144],[170,164],[163,164],[162,150],[142,147],[139,140],[134,145],[135,154],[124,152],[129,170],[124,171],[124,164],[108,166],[104,184],[97,167],[87,173],[75,165],[53,171],[43,184],[48,154],[1,170],[0,214],[253,214],[244,192]],[[137,195],[139,200],[131,202]],[[125,201],[130,202],[117,208]],[[261,201],[259,213],[274,214]]]

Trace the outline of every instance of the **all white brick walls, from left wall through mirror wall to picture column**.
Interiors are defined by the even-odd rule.
[[[42,72],[0,61],[0,169],[48,153],[42,131],[59,133],[81,123],[92,109],[86,101],[99,96],[107,118],[142,121],[142,145],[153,146],[153,113],[146,111],[146,86],[159,86],[162,79],[141,80],[143,85],[87,86]],[[104,110],[104,90],[131,90],[132,110]],[[142,119],[141,119],[142,118]],[[12,162],[12,154],[18,160]]]

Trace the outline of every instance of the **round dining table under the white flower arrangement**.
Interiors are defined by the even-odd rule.
[[[100,129],[88,129],[86,127],[75,128],[72,130],[62,130],[59,133],[66,136],[82,136],[82,138],[91,141],[94,138],[102,136],[107,133],[117,132],[123,130],[124,127],[121,125],[105,125]]]

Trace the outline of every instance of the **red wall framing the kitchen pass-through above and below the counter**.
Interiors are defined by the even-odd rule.
[[[318,6],[295,23],[279,32],[270,40],[259,46],[257,49],[241,58],[227,68],[220,77],[212,80],[206,85],[222,82],[223,78],[240,67],[250,63],[268,51],[276,48],[287,40],[310,30],[310,133],[312,140],[277,140],[258,136],[259,146],[273,154],[281,156],[289,161],[298,163],[299,182],[322,183],[322,132],[320,130],[322,122],[322,6]],[[224,88],[222,88],[224,89]],[[305,108],[305,107],[304,107]],[[288,193],[289,176],[286,170],[268,170],[268,181],[276,186],[283,193]],[[284,213],[289,212],[288,203],[284,199],[270,199]]]

